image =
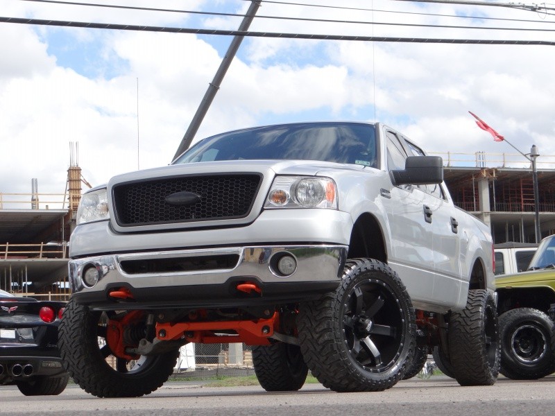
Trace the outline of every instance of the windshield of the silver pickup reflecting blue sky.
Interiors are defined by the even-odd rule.
[[[375,128],[364,123],[295,123],[223,133],[199,141],[174,164],[304,159],[377,168]]]

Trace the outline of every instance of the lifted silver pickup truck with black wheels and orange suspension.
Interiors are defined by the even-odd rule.
[[[338,392],[384,390],[432,350],[461,385],[493,384],[490,230],[442,182],[441,158],[350,122],[226,132],[112,178],[83,195],[71,235],[69,374],[135,397],[186,343],[246,343],[268,391],[308,370]]]

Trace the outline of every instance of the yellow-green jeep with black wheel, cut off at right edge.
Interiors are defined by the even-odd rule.
[[[555,236],[542,240],[528,271],[497,277],[501,373],[516,380],[555,372]]]

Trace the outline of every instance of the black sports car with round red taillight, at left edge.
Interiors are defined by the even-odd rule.
[[[26,396],[64,391],[69,376],[56,345],[64,306],[0,291],[0,385]]]

